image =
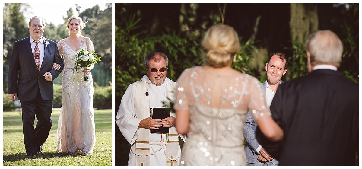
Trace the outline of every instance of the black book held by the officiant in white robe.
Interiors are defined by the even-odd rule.
[[[150,109],[150,117],[152,119],[164,119],[170,117],[171,108],[154,107]],[[150,133],[168,133],[170,127],[159,127],[158,130],[150,129]]]

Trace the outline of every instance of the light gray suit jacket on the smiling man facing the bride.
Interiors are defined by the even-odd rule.
[[[266,83],[261,83],[261,88],[266,93]],[[247,155],[248,163],[252,164],[263,164],[262,162],[258,161],[259,153],[256,152],[256,149],[259,147],[259,142],[256,139],[255,132],[258,124],[254,121],[253,117],[251,116],[250,112],[248,111],[247,117],[244,123],[244,137],[246,140],[245,143],[245,153]],[[269,164],[268,164],[269,163]],[[271,163],[271,164],[270,164]],[[279,162],[276,159],[273,159],[269,162],[266,162],[264,165],[278,165]]]

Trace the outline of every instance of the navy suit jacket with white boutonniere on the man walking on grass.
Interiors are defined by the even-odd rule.
[[[8,94],[17,93],[18,100],[33,100],[40,89],[43,100],[53,100],[53,80],[62,72],[64,64],[60,58],[58,46],[54,41],[43,37],[44,58],[40,71],[35,64],[30,45],[30,36],[16,41],[9,64]],[[60,65],[60,70],[52,69],[53,63]],[[52,81],[46,81],[46,72],[52,75]]]

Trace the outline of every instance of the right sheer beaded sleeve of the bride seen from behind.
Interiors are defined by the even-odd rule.
[[[249,111],[254,120],[269,117],[271,113],[269,107],[266,105],[265,92],[263,92],[260,82],[255,77],[251,78],[249,84]]]

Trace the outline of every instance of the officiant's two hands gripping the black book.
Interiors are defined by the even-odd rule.
[[[174,126],[175,118],[170,116],[164,119],[152,119],[151,117],[142,119],[138,127],[158,130],[159,127],[172,127]]]

